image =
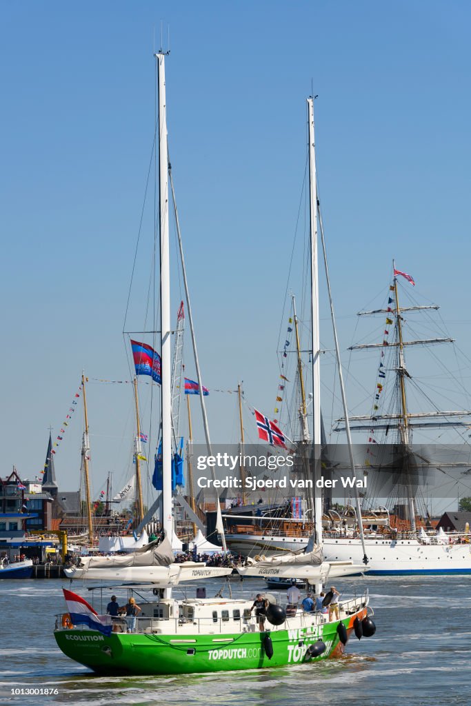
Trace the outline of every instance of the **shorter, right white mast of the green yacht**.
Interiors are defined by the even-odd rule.
[[[307,99],[307,119],[309,125],[309,213],[311,234],[311,322],[312,322],[312,393],[313,393],[313,444],[314,479],[317,480],[321,468],[321,361],[319,337],[319,282],[317,254],[317,186],[316,154],[314,144],[314,99]],[[322,543],[322,495],[314,498],[314,527],[316,542]]]

